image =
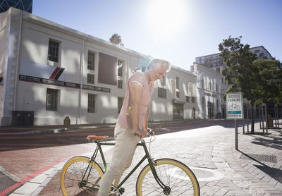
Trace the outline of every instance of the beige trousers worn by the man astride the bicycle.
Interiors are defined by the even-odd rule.
[[[111,165],[102,178],[98,196],[108,196],[111,184],[114,182],[113,185],[117,186],[123,172],[131,165],[137,143],[140,141],[140,137],[134,135],[134,133],[134,130],[122,128],[116,124],[114,129],[116,145],[114,146]]]

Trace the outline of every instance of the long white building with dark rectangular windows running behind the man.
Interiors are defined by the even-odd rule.
[[[0,44],[2,126],[59,125],[66,116],[71,124],[114,123],[125,82],[150,59],[16,8],[0,13]],[[212,89],[203,90],[199,80],[209,82],[209,75]],[[173,66],[155,83],[149,121],[207,118],[203,95],[214,118],[221,110],[219,80],[200,66],[195,73]]]

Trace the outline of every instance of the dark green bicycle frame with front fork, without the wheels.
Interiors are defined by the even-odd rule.
[[[90,159],[90,162],[87,166],[87,169],[82,177],[82,180],[80,181],[80,185],[83,186],[83,183],[85,182],[85,176],[87,175],[87,178],[89,177],[90,175],[90,172],[91,172],[91,169],[92,167],[90,168],[90,171],[88,172],[87,174],[87,171],[91,165],[91,161],[94,161],[97,157],[97,154],[98,152],[100,153],[101,157],[102,157],[102,161],[103,161],[103,164],[104,164],[104,168],[105,168],[105,171],[108,169],[108,166],[106,165],[106,160],[104,158],[104,153],[103,153],[103,150],[102,150],[102,147],[101,146],[114,146],[115,143],[110,143],[110,142],[100,142],[99,140],[94,140],[94,142],[97,144],[97,147],[96,149],[94,150],[94,153]],[[118,184],[118,186],[116,187],[117,189],[121,188],[121,185],[123,185],[123,183],[125,183],[126,180],[128,180],[128,178],[136,171],[136,169],[145,161],[145,159],[148,160],[149,162],[149,166],[152,170],[152,173],[153,173],[153,176],[155,178],[155,180],[157,181],[157,183],[159,184],[159,186],[161,188],[164,189],[164,187],[166,185],[164,185],[164,183],[161,182],[161,180],[159,179],[159,177],[157,176],[157,173],[156,173],[156,170],[154,169],[154,160],[152,159],[152,157],[150,157],[149,155],[149,152],[148,152],[148,149],[147,149],[147,146],[146,146],[146,143],[143,139],[141,139],[141,142],[137,144],[137,146],[142,146],[145,150],[145,156],[137,163],[137,165],[128,173],[127,176],[125,176],[125,178],[123,178],[123,180],[121,181],[121,183]],[[86,178],[86,179],[87,179]],[[87,188],[93,188],[93,187],[87,187]],[[97,188],[94,188],[94,189],[97,189]]]

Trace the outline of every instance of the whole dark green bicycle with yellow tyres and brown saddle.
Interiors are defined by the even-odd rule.
[[[150,133],[147,133],[151,137]],[[107,169],[102,146],[115,145],[104,140],[114,139],[108,136],[88,135],[87,140],[96,143],[92,157],[78,156],[69,159],[61,171],[61,190],[63,195],[94,195],[99,190],[99,183]],[[150,140],[151,142],[151,140]],[[195,195],[200,196],[200,185],[195,174],[180,161],[175,159],[154,159],[150,156],[144,139],[137,146],[142,146],[145,156],[128,173],[117,187],[111,186],[112,195],[122,195],[125,190],[121,186],[147,159],[148,164],[139,173],[136,181],[136,195]],[[95,161],[101,155],[104,169]]]

